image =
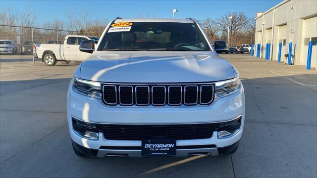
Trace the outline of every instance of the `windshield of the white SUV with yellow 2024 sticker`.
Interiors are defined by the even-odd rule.
[[[112,27],[107,31],[98,50],[211,50],[198,26],[194,23],[133,22],[115,24],[112,24]],[[128,26],[123,25],[122,27],[121,24]]]

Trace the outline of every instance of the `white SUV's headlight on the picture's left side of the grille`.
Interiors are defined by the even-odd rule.
[[[87,96],[101,98],[101,84],[74,78],[73,90]]]

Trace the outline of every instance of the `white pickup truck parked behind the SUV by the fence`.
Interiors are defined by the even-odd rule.
[[[87,52],[81,52],[79,45],[83,40],[94,40],[98,43],[99,38],[92,36],[68,35],[64,44],[34,44],[33,55],[42,58],[47,66],[54,66],[57,61],[68,64],[70,61],[84,61],[90,56]]]

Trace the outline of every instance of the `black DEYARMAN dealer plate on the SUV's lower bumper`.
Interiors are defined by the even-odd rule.
[[[151,138],[142,140],[142,156],[175,156],[176,140]]]

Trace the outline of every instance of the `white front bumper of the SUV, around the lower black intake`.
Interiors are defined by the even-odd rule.
[[[72,117],[84,122],[105,124],[168,125],[188,123],[214,123],[229,121],[241,115],[240,130],[227,138],[218,138],[217,131],[210,138],[176,140],[176,156],[196,154],[224,154],[222,148],[237,143],[243,133],[245,118],[244,89],[229,96],[219,98],[209,106],[179,107],[112,107],[105,106],[96,98],[87,97],[68,90],[67,119],[69,133],[78,150],[90,150],[91,156],[141,157],[141,140],[109,140],[99,133],[98,140],[86,139],[76,134],[72,127]],[[82,148],[83,147],[83,148]],[[235,148],[234,146],[232,146]],[[180,149],[182,148],[182,149]],[[81,151],[87,154],[87,151]]]

